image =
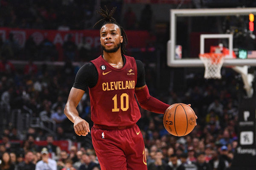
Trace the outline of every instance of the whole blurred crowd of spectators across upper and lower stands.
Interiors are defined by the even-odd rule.
[[[37,29],[85,29],[93,18],[89,0],[0,0],[0,26]],[[122,1],[104,1],[106,5],[121,6]],[[104,4],[103,4],[104,5]],[[74,10],[76,9],[76,10]],[[76,13],[74,11],[80,11]],[[141,20],[151,22],[152,11],[146,5]],[[116,15],[121,16],[121,11]],[[76,18],[76,20],[73,20]],[[125,29],[148,29],[149,23],[138,22],[131,8],[124,15]],[[117,20],[122,20],[117,17]],[[95,20],[92,22],[95,23]],[[93,23],[93,24],[94,24]],[[140,23],[140,24],[138,24]],[[152,34],[153,35],[153,34]],[[153,37],[153,36],[152,36]],[[159,70],[149,62],[150,54],[132,55],[143,60],[146,83],[150,94],[163,102],[191,104],[198,116],[197,126],[187,136],[170,135],[163,126],[163,115],[140,109],[137,122],[144,137],[148,170],[229,170],[237,146],[238,97],[236,74],[223,68],[221,80],[205,80],[203,74],[180,74],[180,69],[166,66],[166,32],[154,37],[159,48]],[[152,38],[152,39],[154,39]],[[154,44],[154,45],[155,45]],[[76,59],[64,59],[64,65],[36,65],[35,60],[56,61],[57,52],[49,40],[35,45],[32,38],[20,48],[13,39],[0,39],[0,170],[44,170],[49,162],[54,170],[98,170],[99,162],[91,144],[90,133],[76,136],[73,124],[64,115],[64,106],[78,69],[101,53],[92,53],[86,44],[64,43],[64,54],[75,51]],[[79,52],[77,52],[79,51]],[[26,65],[14,65],[10,59],[19,55],[29,60]],[[152,55],[152,54],[151,54]],[[86,56],[86,57],[84,57]],[[155,56],[155,55],[154,55]],[[92,57],[92,58],[89,58]],[[80,61],[74,65],[73,61]],[[160,83],[156,82],[161,72]],[[174,76],[173,76],[174,75]],[[177,76],[175,76],[177,75]],[[180,77],[179,77],[180,76]],[[172,77],[172,78],[171,78]],[[182,78],[181,78],[182,77]],[[182,81],[182,82],[180,82]],[[77,109],[89,122],[90,99],[85,92]],[[17,124],[16,110],[21,117],[38,122],[26,122],[27,128]],[[68,150],[53,144],[68,140],[74,144]],[[39,146],[38,141],[47,144]]]

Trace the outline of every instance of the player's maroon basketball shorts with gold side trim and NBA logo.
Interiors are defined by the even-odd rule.
[[[102,170],[147,170],[145,144],[137,125],[121,130],[94,125],[93,147]]]

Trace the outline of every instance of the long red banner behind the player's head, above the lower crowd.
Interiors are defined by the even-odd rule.
[[[148,31],[125,31],[128,37],[127,48],[143,48],[146,41],[150,38]],[[15,40],[24,47],[26,40],[32,36],[35,43],[39,45],[45,38],[53,42],[53,44],[63,44],[67,37],[71,34],[72,40],[78,45],[83,38],[91,47],[100,45],[99,30],[36,30],[36,29],[17,29],[17,28],[0,28],[0,37],[5,41],[9,38],[9,34],[14,35]]]

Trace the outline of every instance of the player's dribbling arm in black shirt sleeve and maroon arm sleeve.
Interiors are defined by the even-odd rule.
[[[140,106],[155,113],[164,113],[170,106],[149,94],[148,87],[145,83],[145,69],[140,60],[136,60],[137,64],[137,83],[135,86],[135,95]]]

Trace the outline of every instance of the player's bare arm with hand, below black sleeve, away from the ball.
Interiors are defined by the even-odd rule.
[[[83,90],[74,87],[71,88],[67,99],[67,104],[64,109],[65,115],[68,119],[70,119],[71,122],[74,123],[74,130],[79,136],[86,136],[88,132],[90,132],[89,123],[79,116],[76,109],[83,95]]]

